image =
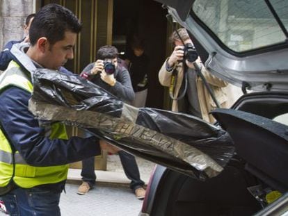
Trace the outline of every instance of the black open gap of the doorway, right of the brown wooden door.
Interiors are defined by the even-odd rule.
[[[114,0],[112,44],[120,53],[127,51],[133,34],[145,40],[145,53],[150,59],[146,106],[163,108],[163,87],[158,72],[166,58],[166,11],[153,0]]]

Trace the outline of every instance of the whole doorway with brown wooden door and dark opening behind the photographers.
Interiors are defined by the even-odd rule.
[[[36,2],[36,10],[47,3],[59,3],[69,8],[83,24],[74,49],[74,60],[65,65],[75,74],[80,74],[88,63],[95,61],[99,47],[113,44],[120,52],[125,52],[129,37],[133,33],[141,35],[145,39],[145,53],[150,58],[146,106],[163,108],[166,97],[158,72],[166,58],[170,32],[166,10],[161,3],[153,0],[41,0]]]

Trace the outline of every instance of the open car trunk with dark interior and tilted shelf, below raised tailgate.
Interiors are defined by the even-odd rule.
[[[273,120],[287,107],[288,94],[259,92],[243,95],[231,109],[214,110],[236,154],[205,182],[166,169],[150,215],[254,215],[268,206],[269,192],[287,194],[288,126]],[[282,199],[287,205],[287,196]]]

